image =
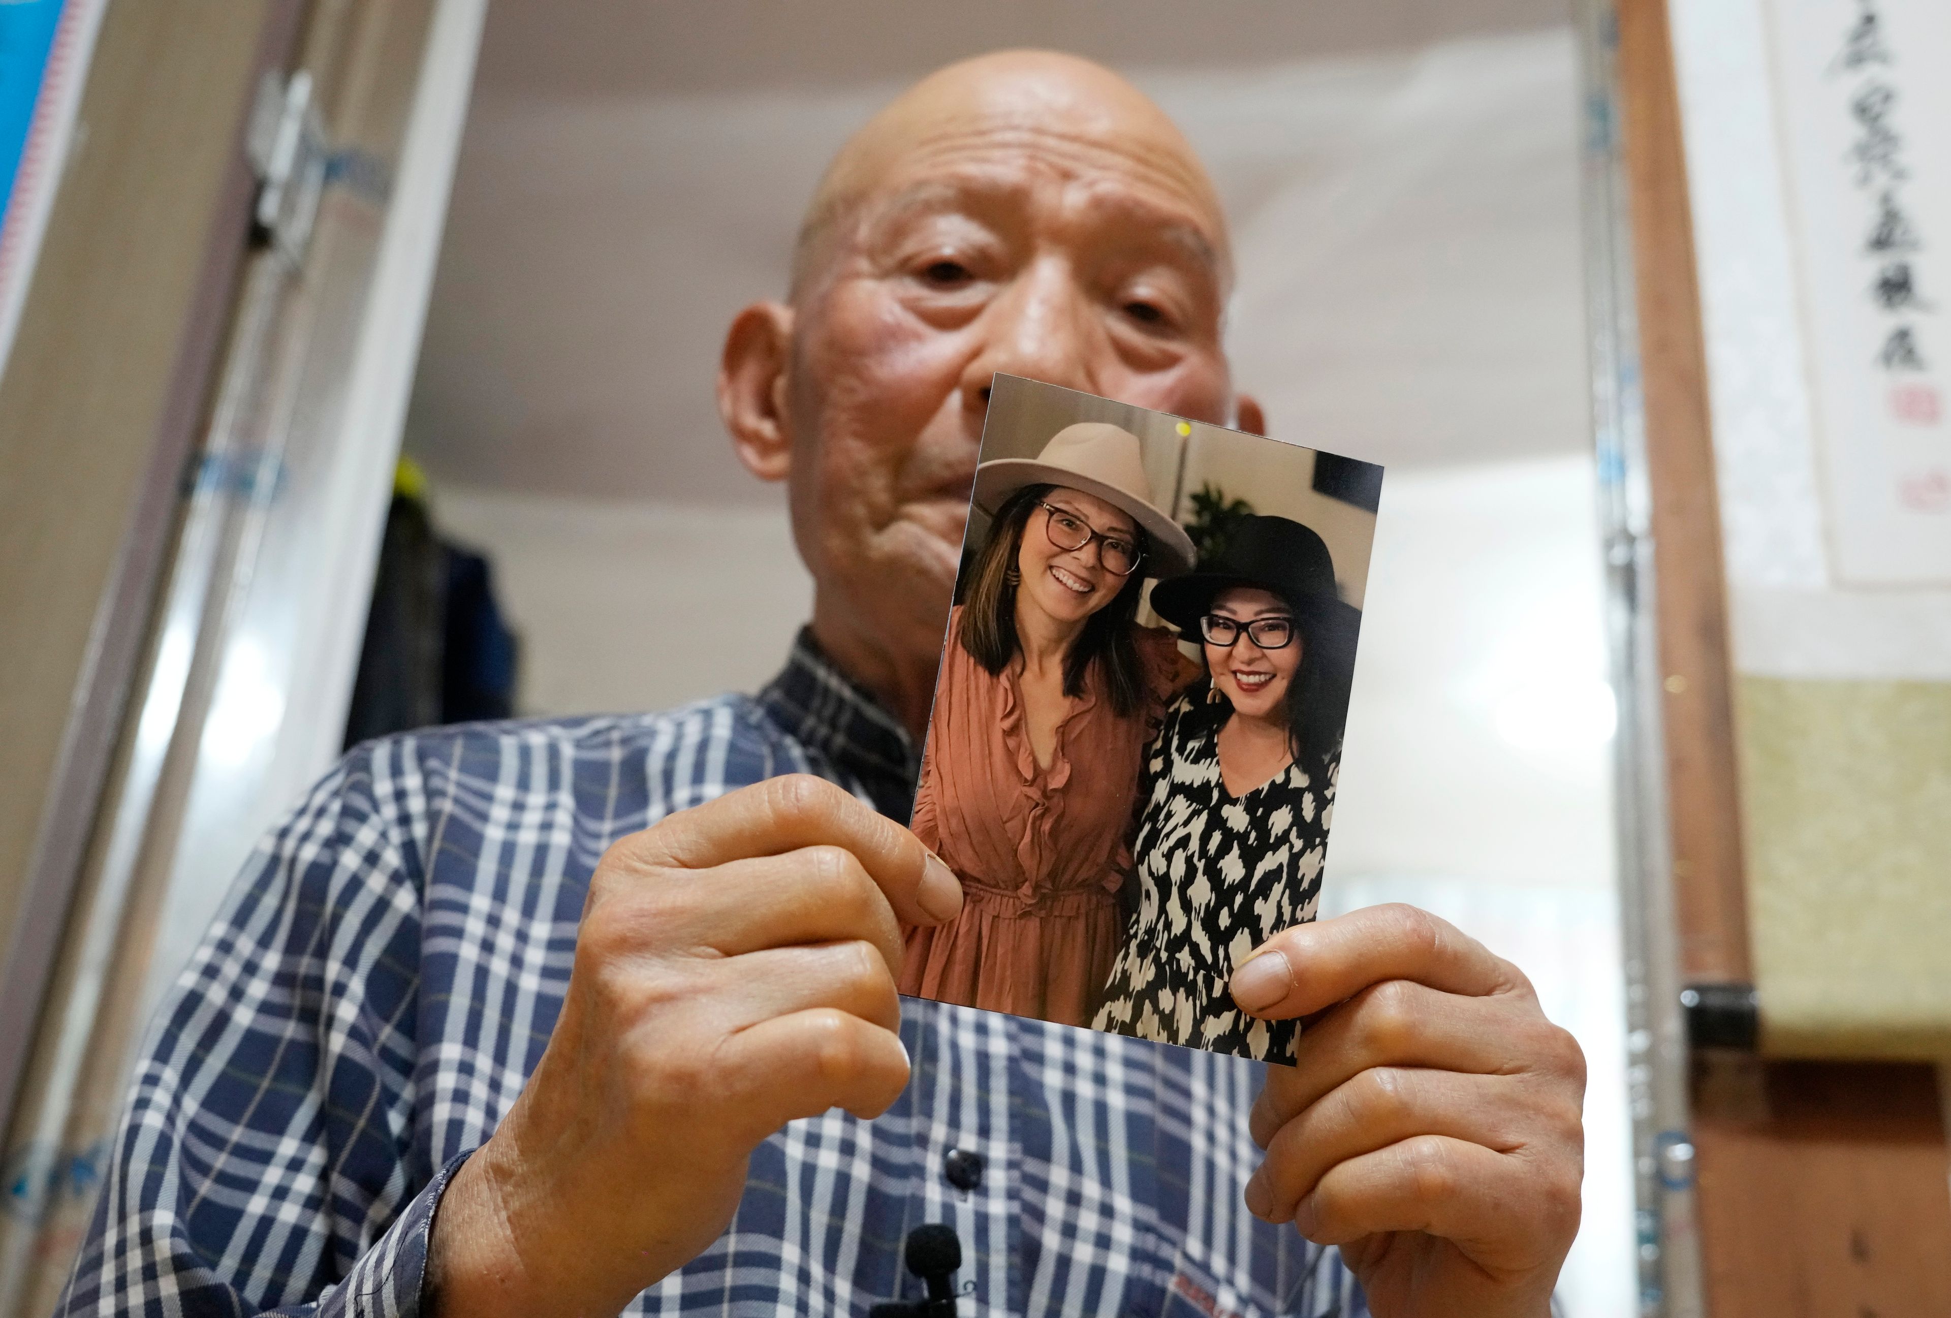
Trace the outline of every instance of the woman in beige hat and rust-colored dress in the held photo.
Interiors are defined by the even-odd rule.
[[[1139,760],[1198,673],[1134,622],[1137,597],[1192,542],[1137,437],[1095,421],[983,462],[976,505],[995,521],[950,614],[913,819],[964,907],[905,932],[901,992],[1083,1026],[1122,942]]]

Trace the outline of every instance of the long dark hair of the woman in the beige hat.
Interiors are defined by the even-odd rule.
[[[1016,583],[1011,581],[1016,556],[1022,550],[1022,528],[1038,501],[1055,485],[1026,485],[1013,493],[995,513],[989,538],[983,540],[970,571],[968,595],[962,601],[962,649],[991,677],[1001,677],[1022,649],[1016,638]],[[1145,548],[1145,532],[1137,530],[1137,546]],[[1143,560],[1139,560],[1143,562]],[[1134,571],[1104,608],[1085,618],[1083,632],[1063,655],[1063,694],[1079,698],[1096,665],[1098,680],[1118,717],[1132,717],[1145,700],[1143,667],[1132,628],[1137,620],[1137,595],[1143,573]]]

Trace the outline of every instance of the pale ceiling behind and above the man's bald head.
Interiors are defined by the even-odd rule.
[[[778,294],[833,148],[919,72],[999,45],[1112,62],[1206,156],[1235,224],[1235,374],[1272,433],[1385,464],[1584,448],[1561,4],[1186,14],[496,0],[410,448],[455,485],[776,499],[722,439],[720,335]]]

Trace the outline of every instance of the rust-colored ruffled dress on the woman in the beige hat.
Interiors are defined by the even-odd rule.
[[[901,992],[1083,1026],[1124,942],[1118,889],[1145,743],[1198,675],[1169,632],[1139,628],[1147,698],[1118,717],[1096,675],[1036,762],[1013,671],[991,677],[948,622],[915,836],[962,879],[954,924],[905,930]]]

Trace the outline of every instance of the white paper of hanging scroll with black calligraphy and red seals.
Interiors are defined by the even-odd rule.
[[[1951,4],[1770,10],[1834,575],[1951,585]]]

